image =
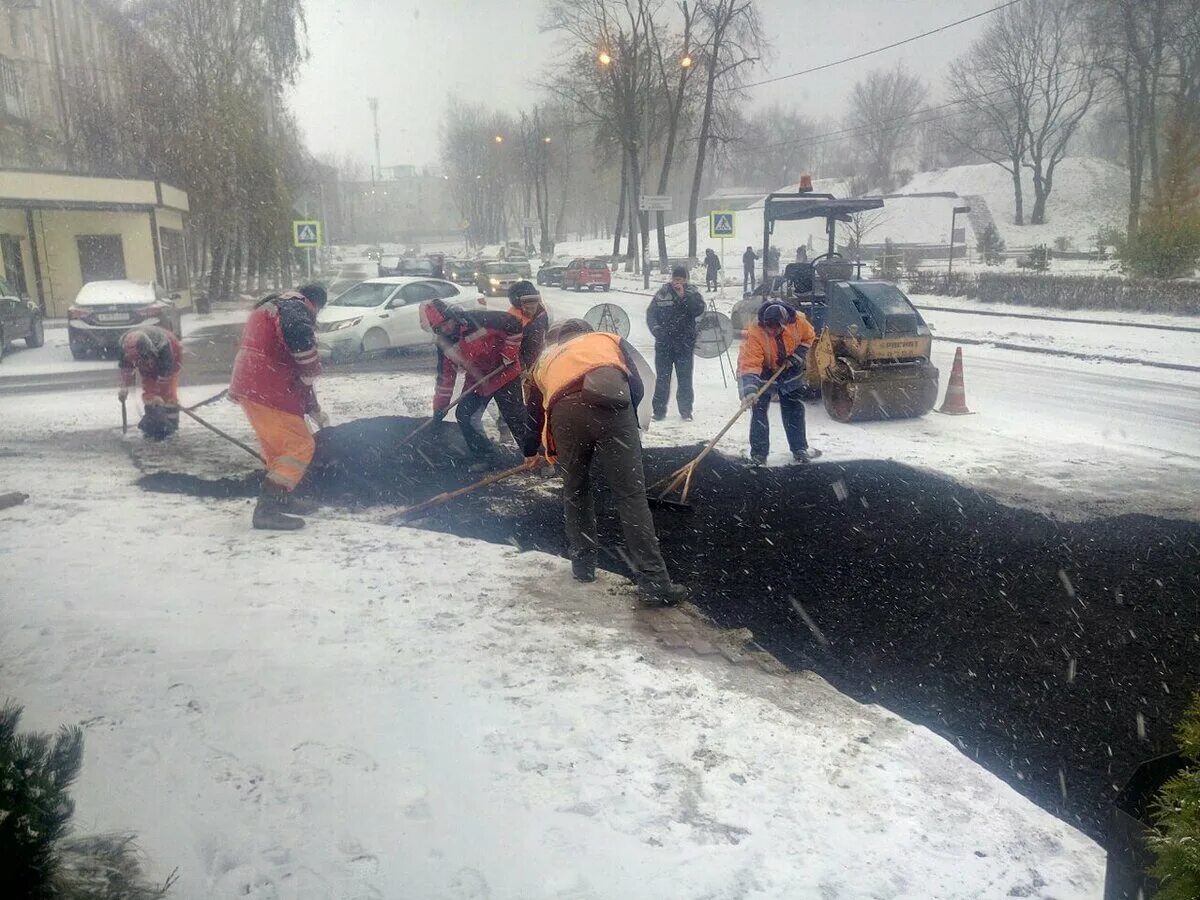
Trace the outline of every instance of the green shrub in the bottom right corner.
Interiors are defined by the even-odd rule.
[[[1163,787],[1154,803],[1150,847],[1156,862],[1159,900],[1200,896],[1200,694],[1184,710],[1176,730],[1180,752],[1192,766]]]

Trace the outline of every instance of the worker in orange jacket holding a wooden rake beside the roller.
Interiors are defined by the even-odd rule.
[[[738,389],[743,400],[757,394],[780,366],[786,367],[770,390],[755,401],[750,413],[750,462],[754,466],[766,463],[770,452],[767,413],[772,396],[779,397],[779,412],[792,457],[797,462],[808,462],[820,455],[809,449],[804,431],[804,402],[800,400],[805,360],[816,336],[805,316],[778,300],[760,306],[758,324],[746,329],[738,353]]]

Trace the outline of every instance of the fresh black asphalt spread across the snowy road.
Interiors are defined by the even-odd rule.
[[[349,506],[412,503],[478,478],[452,425],[444,444],[431,434],[397,448],[418,421],[326,430],[307,488]],[[647,479],[697,450],[647,450]],[[533,479],[416,524],[564,553],[560,503]],[[706,614],[929,726],[1094,836],[1129,772],[1172,749],[1200,689],[1195,523],[1057,522],[890,462],[752,470],[709,457],[691,499],[655,522],[673,577]],[[602,486],[598,504],[600,565],[628,574]]]

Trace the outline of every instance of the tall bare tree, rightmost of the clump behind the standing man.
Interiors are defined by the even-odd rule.
[[[743,74],[767,52],[755,0],[696,0],[697,48],[704,67],[704,96],[696,137],[696,167],[688,203],[688,257],[696,258],[696,214],[708,151],[719,118],[718,104],[737,97]],[[720,89],[720,92],[719,92]]]

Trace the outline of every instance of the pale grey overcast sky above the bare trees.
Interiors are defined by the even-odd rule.
[[[794,72],[926,31],[997,6],[1000,0],[760,0],[775,55],[755,79]],[[368,96],[379,97],[384,166],[438,157],[442,108],[451,94],[518,112],[554,56],[554,35],[538,31],[544,0],[308,0],[312,59],[292,107],[314,152],[373,161]],[[755,104],[794,104],[814,116],[841,115],[866,68],[904,60],[932,82],[986,18],[944,34],[750,92]]]

